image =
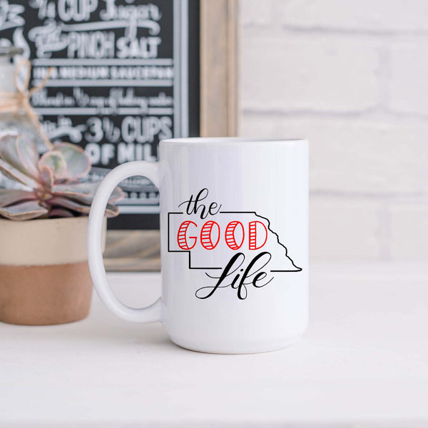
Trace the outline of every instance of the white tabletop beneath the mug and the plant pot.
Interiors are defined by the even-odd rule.
[[[154,300],[156,273],[111,273]],[[160,324],[0,323],[0,427],[428,427],[428,267],[314,265],[311,322],[292,347],[209,355]]]

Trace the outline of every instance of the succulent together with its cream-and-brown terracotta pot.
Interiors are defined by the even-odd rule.
[[[97,183],[81,179],[90,168],[74,144],[39,156],[34,141],[0,138],[0,321],[49,325],[88,315],[87,215]],[[121,198],[116,188],[106,217],[118,214]]]

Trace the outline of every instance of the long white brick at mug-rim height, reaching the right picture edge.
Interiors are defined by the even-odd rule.
[[[427,123],[245,113],[243,136],[307,138],[310,190],[346,195],[428,193]]]

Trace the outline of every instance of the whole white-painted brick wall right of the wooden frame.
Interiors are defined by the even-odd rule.
[[[428,258],[428,1],[241,11],[241,134],[310,140],[312,259]]]

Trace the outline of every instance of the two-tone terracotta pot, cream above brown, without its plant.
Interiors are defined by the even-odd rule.
[[[88,316],[87,229],[87,217],[0,219],[0,321],[50,325]]]

